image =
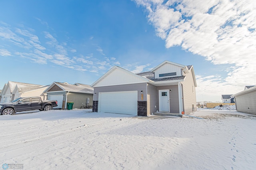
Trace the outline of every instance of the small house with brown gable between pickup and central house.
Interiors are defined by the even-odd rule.
[[[58,107],[54,108],[66,109],[67,102],[74,102],[73,108],[80,109],[87,98],[90,99],[88,105],[92,107],[93,88],[90,85],[53,82],[44,93],[47,93],[48,100],[58,101]]]

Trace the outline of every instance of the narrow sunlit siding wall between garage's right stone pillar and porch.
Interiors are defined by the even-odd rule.
[[[148,84],[147,86],[147,115],[154,113],[158,108],[156,86]]]

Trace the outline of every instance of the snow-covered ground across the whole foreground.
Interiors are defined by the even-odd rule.
[[[0,164],[25,170],[254,170],[256,117],[198,109],[132,117],[90,109],[0,115]]]

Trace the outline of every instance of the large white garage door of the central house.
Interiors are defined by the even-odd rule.
[[[98,112],[137,115],[137,91],[99,93]]]

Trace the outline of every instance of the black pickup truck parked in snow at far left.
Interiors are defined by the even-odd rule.
[[[56,100],[41,100],[41,97],[20,97],[10,103],[0,103],[1,115],[12,115],[20,111],[30,111],[39,109],[40,111],[50,111],[52,107],[58,106]]]

